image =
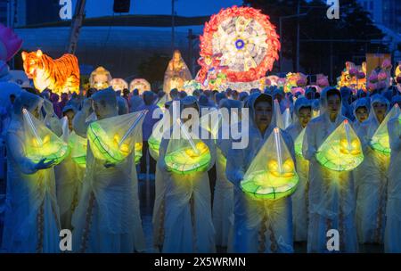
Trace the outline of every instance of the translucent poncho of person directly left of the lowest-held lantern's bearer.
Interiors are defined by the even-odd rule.
[[[191,104],[198,105],[192,96],[181,100],[183,106]],[[208,134],[206,130],[202,131],[201,127],[192,127],[193,130],[197,128],[200,130],[199,135]],[[209,149],[207,168],[199,168],[185,174],[168,171],[166,154],[174,152],[174,145],[179,147],[183,141],[189,142],[182,138],[169,140],[163,136],[160,144],[158,167],[160,172],[166,175],[163,252],[214,252],[215,232],[211,216],[208,171],[215,163],[215,146],[212,139],[195,140],[195,144],[201,143]]]

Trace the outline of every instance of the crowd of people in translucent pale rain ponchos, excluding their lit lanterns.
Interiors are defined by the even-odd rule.
[[[60,252],[60,229],[72,231],[73,252],[145,252],[138,181],[155,184],[152,216],[153,248],[160,252],[293,252],[294,243],[307,252],[330,252],[328,231],[339,232],[340,252],[358,252],[361,244],[384,245],[401,252],[401,127],[398,107],[401,87],[373,92],[348,87],[308,86],[305,93],[284,93],[272,86],[250,93],[171,90],[165,94],[138,90],[120,92],[111,87],[86,94],[38,94],[33,89],[10,96],[2,113],[6,146],[6,201],[2,249],[6,252]],[[160,103],[164,101],[163,103]],[[209,167],[178,174],[166,165],[168,138],[162,138],[159,156],[149,155],[149,139],[174,101],[181,109],[248,108],[249,144],[233,148],[238,138],[201,139],[210,152]],[[276,107],[279,108],[276,108]],[[135,152],[116,164],[107,164],[86,151],[86,168],[66,158],[29,160],[24,150],[27,127],[23,109],[62,137],[61,118],[68,119],[68,136],[87,137],[97,120],[147,111],[142,124],[142,158]],[[276,200],[256,198],[241,189],[250,164],[278,127],[279,115],[291,112],[291,125],[281,136],[294,160],[299,184],[294,193]],[[230,111],[231,112],[231,111]],[[187,119],[182,119],[183,122]],[[325,139],[345,120],[362,144],[364,161],[351,171],[335,171],[316,160]],[[389,155],[372,148],[372,136],[384,125]],[[192,127],[192,129],[204,127]],[[302,155],[294,142],[305,132]],[[200,133],[201,134],[201,133]],[[65,136],[65,135],[64,135]],[[269,152],[269,150],[267,150]],[[271,152],[274,152],[272,149]]]

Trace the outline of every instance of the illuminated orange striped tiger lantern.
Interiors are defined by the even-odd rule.
[[[33,79],[39,91],[46,88],[55,94],[79,92],[79,67],[75,55],[66,53],[53,60],[50,56],[37,52],[22,52],[25,73]]]

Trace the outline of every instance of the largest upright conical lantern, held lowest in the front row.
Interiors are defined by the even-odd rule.
[[[298,182],[291,153],[276,127],[252,160],[241,189],[256,198],[276,200],[293,193]]]

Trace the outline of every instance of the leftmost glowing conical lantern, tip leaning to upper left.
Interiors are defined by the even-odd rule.
[[[60,137],[56,136],[41,121],[29,111],[22,110],[24,128],[27,133],[24,147],[29,160],[37,163],[54,160],[54,165],[60,164],[70,153],[70,147]]]

